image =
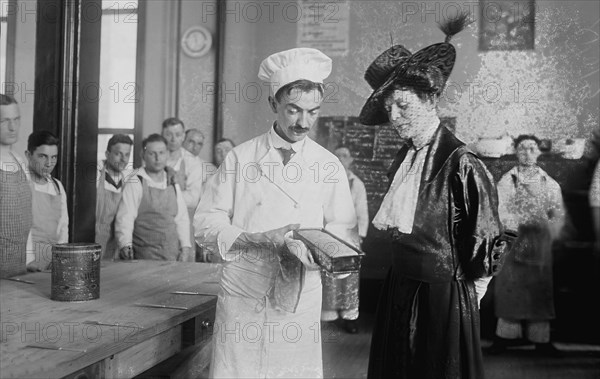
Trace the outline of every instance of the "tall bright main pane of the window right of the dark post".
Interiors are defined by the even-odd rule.
[[[132,17],[134,16],[134,17]],[[102,16],[99,128],[134,128],[137,15]]]

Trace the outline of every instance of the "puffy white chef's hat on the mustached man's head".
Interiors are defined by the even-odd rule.
[[[323,83],[331,74],[331,58],[317,49],[298,47],[265,58],[258,69],[258,78],[268,82],[271,95],[286,84],[306,79]]]

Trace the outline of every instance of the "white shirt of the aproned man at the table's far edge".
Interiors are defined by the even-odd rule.
[[[166,189],[167,188],[167,175],[164,174],[164,178],[160,182],[155,182],[145,169],[140,169],[137,175],[141,176],[148,187]],[[138,209],[142,202],[143,186],[139,180],[135,180],[137,177],[132,178],[127,185],[123,188],[123,198],[119,204],[117,210],[117,217],[115,219],[115,238],[119,249],[130,246],[133,239],[133,226],[135,219],[138,215]],[[179,185],[175,185],[177,192],[177,216],[175,216],[175,224],[177,227],[177,236],[181,247],[191,247],[190,243],[190,220],[181,194],[181,188]]]

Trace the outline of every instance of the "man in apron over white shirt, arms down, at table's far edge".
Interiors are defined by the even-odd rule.
[[[142,142],[144,167],[123,189],[115,236],[121,259],[187,261],[190,221],[179,184],[167,182],[167,141],[151,134]]]

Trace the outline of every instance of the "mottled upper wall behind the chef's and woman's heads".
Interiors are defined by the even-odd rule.
[[[226,2],[222,85],[228,92],[220,101],[224,134],[236,142],[262,133],[273,120],[267,91],[257,98],[251,90],[262,85],[256,77],[262,59],[296,46],[296,17],[282,12],[290,2],[275,2],[273,12],[267,11],[268,2]],[[261,16],[248,4],[261,7]],[[358,115],[371,93],[364,70],[392,40],[414,52],[444,39],[436,23],[456,4],[478,9],[476,1],[349,4],[350,52],[334,58],[328,81],[337,93],[324,104],[323,116]],[[538,0],[536,5],[535,50],[480,52],[478,23],[453,39],[458,57],[440,113],[457,117],[457,133],[466,142],[523,132],[588,137],[598,127],[599,2]]]

